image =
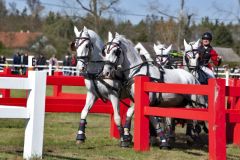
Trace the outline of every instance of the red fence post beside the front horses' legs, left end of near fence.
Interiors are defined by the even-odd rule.
[[[149,105],[148,93],[144,92],[146,76],[135,77],[134,86],[134,149],[137,151],[149,150],[149,119],[144,116],[144,107]]]

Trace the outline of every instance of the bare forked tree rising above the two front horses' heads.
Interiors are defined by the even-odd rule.
[[[82,9],[94,17],[94,29],[97,33],[101,25],[100,18],[102,14],[110,9],[114,9],[114,5],[119,2],[119,0],[89,0],[89,7],[87,7],[81,0],[76,1]]]

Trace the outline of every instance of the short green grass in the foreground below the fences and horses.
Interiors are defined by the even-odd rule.
[[[78,113],[46,113],[44,159],[208,159],[207,145],[188,147],[184,143],[184,130],[180,127],[177,128],[176,147],[172,150],[160,150],[157,146],[152,146],[149,152],[135,152],[133,148],[120,148],[119,141],[109,137],[109,116],[100,114],[88,116],[87,140],[84,144],[76,145],[75,136],[79,118],[80,114]],[[24,120],[0,120],[0,159],[22,159],[24,126]],[[228,159],[240,159],[239,147],[228,145],[227,152]]]

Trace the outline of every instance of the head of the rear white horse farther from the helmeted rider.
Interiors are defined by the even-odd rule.
[[[164,44],[161,44],[160,42],[157,42],[158,44],[153,45],[153,49],[156,53],[156,62],[157,64],[161,66],[165,66],[168,63],[169,60],[169,53],[172,49],[172,45],[168,46],[168,48],[165,48]]]

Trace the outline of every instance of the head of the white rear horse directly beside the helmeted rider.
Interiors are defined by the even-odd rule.
[[[199,52],[198,52],[198,46],[199,41],[197,42],[190,42],[189,44],[184,39],[184,60],[186,61],[186,65],[189,69],[195,69],[198,66],[199,62]]]

